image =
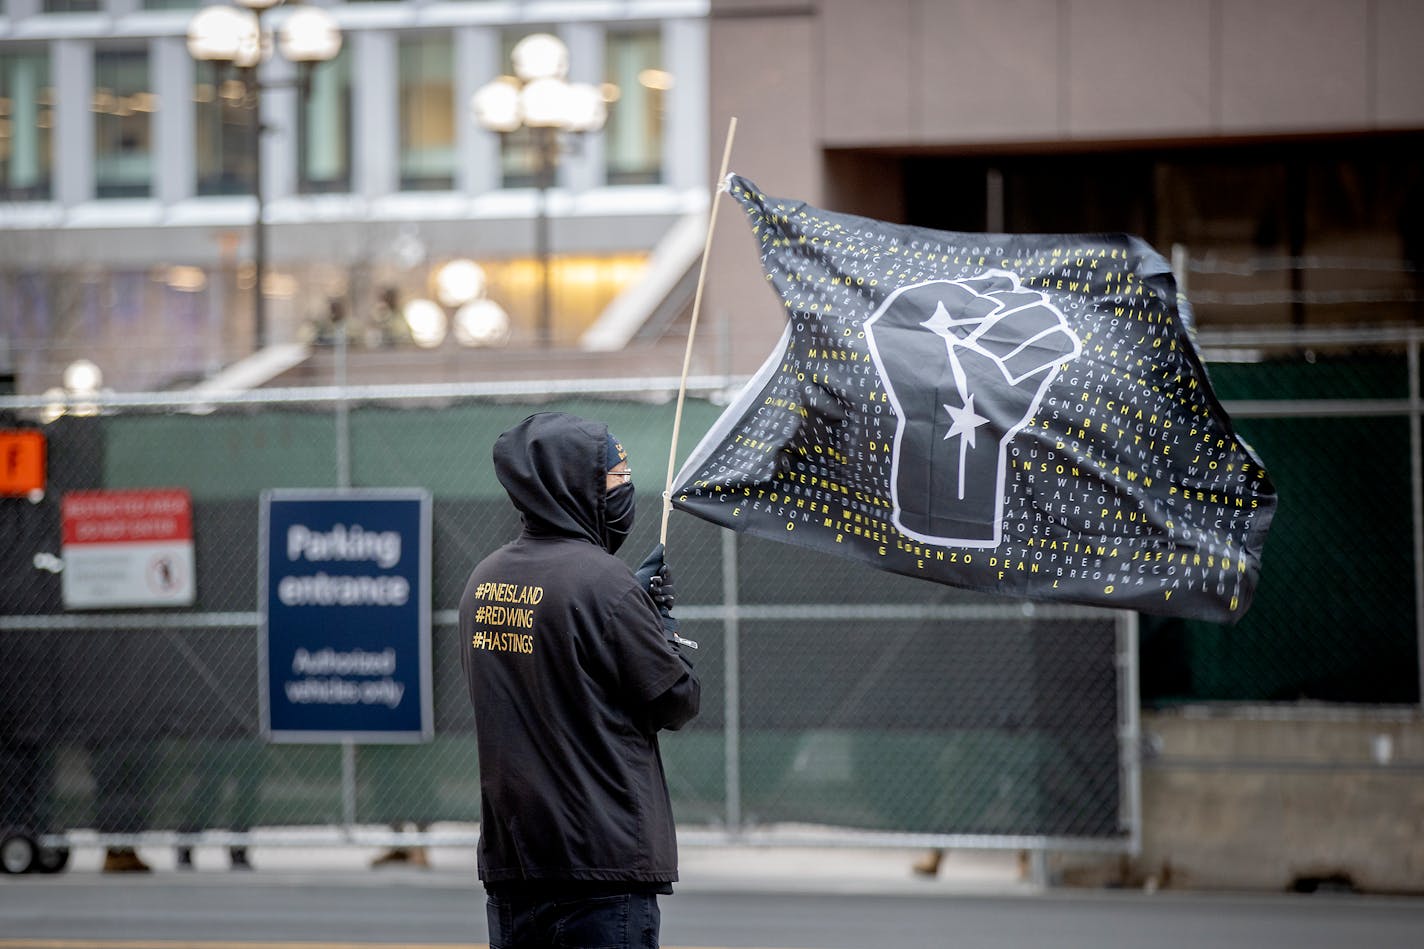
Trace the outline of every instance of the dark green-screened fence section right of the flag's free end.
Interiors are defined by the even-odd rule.
[[[1142,698],[1420,702],[1418,331],[1203,335],[1212,385],[1279,492],[1233,627],[1142,617]]]

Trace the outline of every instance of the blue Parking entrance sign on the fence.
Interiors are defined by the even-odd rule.
[[[269,741],[433,734],[430,494],[262,494],[262,731]]]

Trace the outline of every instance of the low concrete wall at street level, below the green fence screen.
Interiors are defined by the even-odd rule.
[[[1055,858],[1065,885],[1424,893],[1424,714],[1143,715],[1142,854]]]

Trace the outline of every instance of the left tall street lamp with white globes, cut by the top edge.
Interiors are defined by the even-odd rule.
[[[271,56],[272,37],[262,28],[262,14],[283,0],[235,0],[239,7],[216,4],[199,10],[188,24],[188,53],[199,61],[215,63],[219,68],[235,68],[244,88],[244,103],[252,111],[252,197],[256,214],[252,222],[252,333],[253,349],[268,343],[266,296],[266,195],[262,177],[262,90],[258,67]],[[309,88],[310,70],[318,63],[335,58],[342,50],[342,31],[330,13],[320,7],[295,7],[283,17],[276,47],[283,58],[300,70],[299,85],[303,95]]]

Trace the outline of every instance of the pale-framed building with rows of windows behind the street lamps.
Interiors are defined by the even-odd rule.
[[[316,3],[343,46],[309,91],[281,56],[259,67],[268,342],[319,343],[340,316],[353,372],[365,356],[369,380],[429,380],[457,343],[414,352],[402,308],[471,259],[510,351],[538,349],[533,151],[470,110],[530,33],[558,34],[570,78],[608,103],[548,191],[553,348],[577,351],[675,225],[705,214],[705,0]],[[80,358],[110,388],[181,386],[255,348],[251,100],[235,71],[189,56],[201,6],[0,3],[0,370],[21,392]]]

